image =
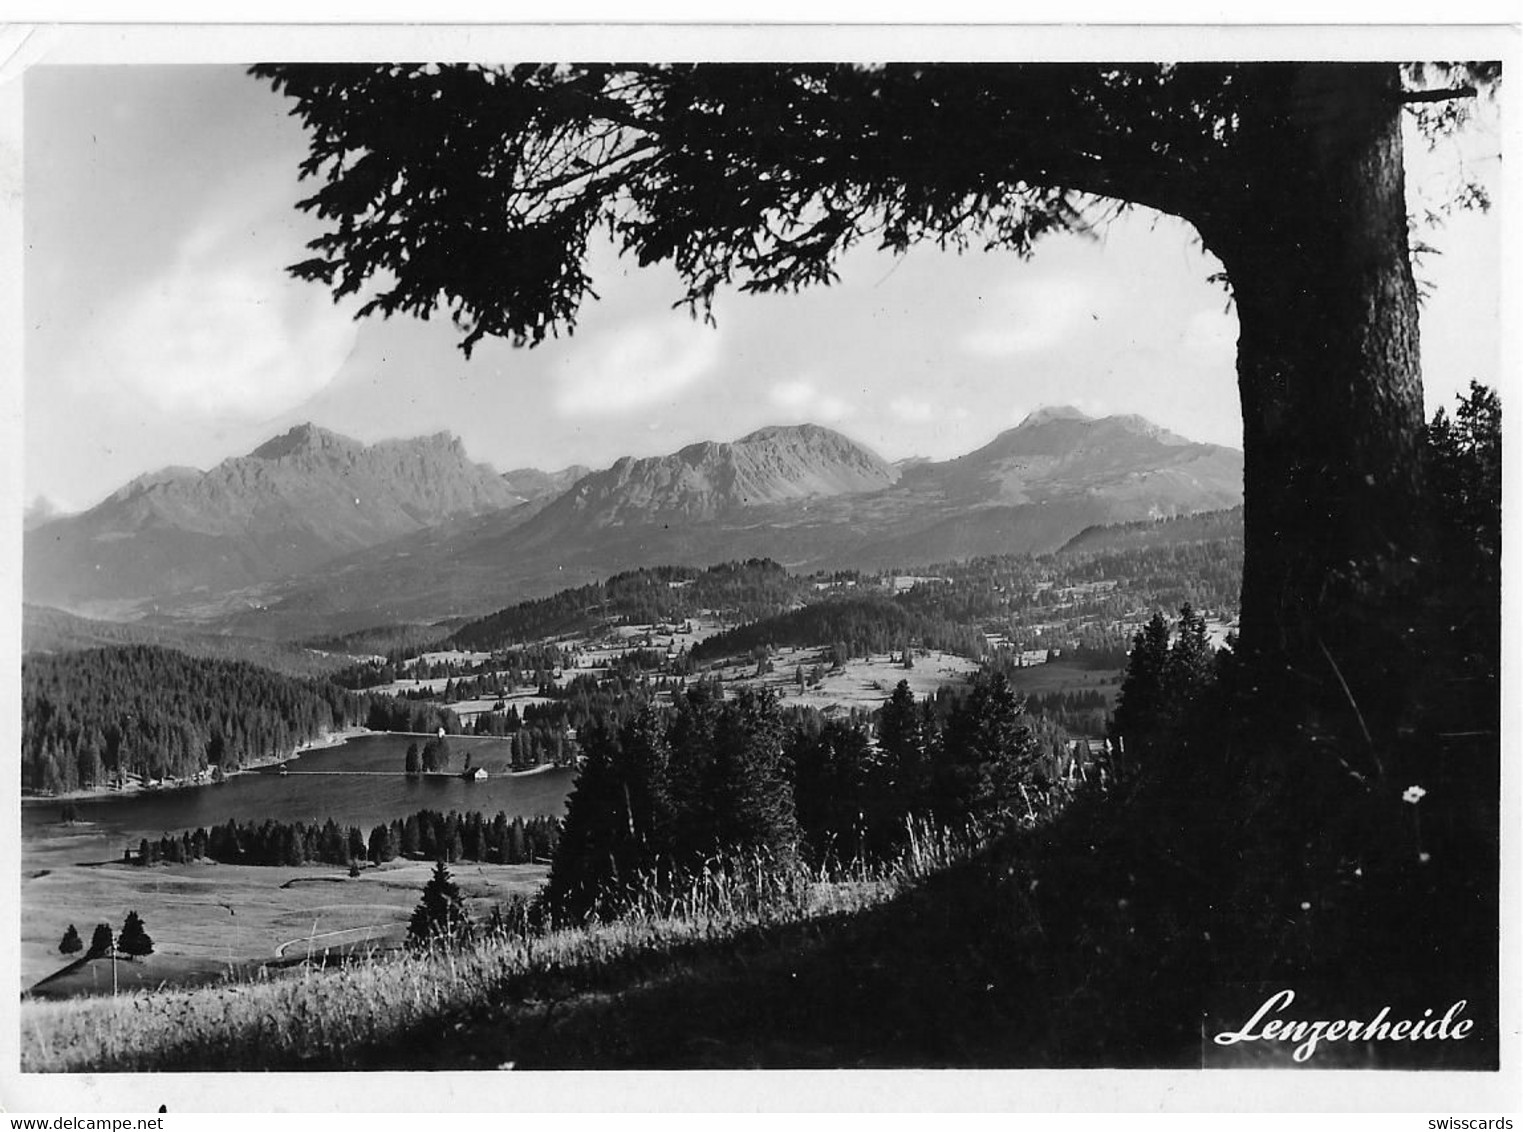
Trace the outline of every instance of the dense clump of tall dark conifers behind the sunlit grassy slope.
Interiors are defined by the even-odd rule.
[[[714,855],[862,859],[891,852],[915,815],[1031,814],[1075,771],[1062,731],[993,670],[924,701],[900,681],[876,725],[698,681],[670,708],[592,727],[582,747],[544,894],[573,919],[617,914],[652,878],[678,882]]]

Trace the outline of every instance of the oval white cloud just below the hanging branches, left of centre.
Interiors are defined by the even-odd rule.
[[[672,401],[707,378],[720,357],[720,334],[676,317],[626,325],[594,343],[560,379],[564,414],[608,416]]]

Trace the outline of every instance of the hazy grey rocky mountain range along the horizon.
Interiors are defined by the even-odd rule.
[[[602,471],[474,463],[437,434],[300,425],[200,472],[139,477],[26,532],[26,600],[294,638],[431,620],[640,565],[769,556],[894,568],[1045,553],[1086,527],[1231,507],[1243,457],[1136,416],[1045,408],[953,460],[891,465],[818,425]]]

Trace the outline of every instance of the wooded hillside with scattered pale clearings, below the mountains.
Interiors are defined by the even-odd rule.
[[[1237,612],[1243,576],[1241,509],[1095,527],[1054,555],[999,555],[905,568],[793,574],[771,559],[652,567],[564,590],[469,622],[433,646],[466,652],[717,614],[736,628],[694,648],[698,661],[760,646],[842,646],[844,655],[937,648],[990,651],[985,634],[1016,649],[1080,649],[1118,666],[1130,634],[1157,609],[1189,603]],[[909,582],[909,588],[905,584]],[[367,640],[379,640],[375,635]],[[399,661],[423,651],[393,648]],[[332,644],[356,644],[356,638]]]

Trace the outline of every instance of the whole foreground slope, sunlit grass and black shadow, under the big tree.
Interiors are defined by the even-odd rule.
[[[1372,894],[1362,911],[1260,923],[1208,899],[1232,888],[1209,875],[1212,859],[1221,875],[1253,868],[1241,853],[1252,830],[1223,821],[1200,832],[1214,856],[1180,853],[1156,836],[1179,814],[1139,807],[1115,794],[1078,801],[1046,829],[897,885],[777,888],[725,914],[507,934],[268,983],[24,1002],[23,1070],[1288,1065],[1287,1044],[1224,1051],[1209,1033],[1282,986],[1308,1002],[1334,987],[1333,1006],[1359,1016],[1352,989],[1401,1016],[1410,983],[1418,1015],[1468,995],[1473,1038],[1323,1045],[1313,1065],[1496,1068],[1494,966],[1461,932],[1448,954],[1432,949],[1456,923],[1451,899],[1403,884],[1407,896]],[[1398,920],[1404,940],[1383,931]]]

